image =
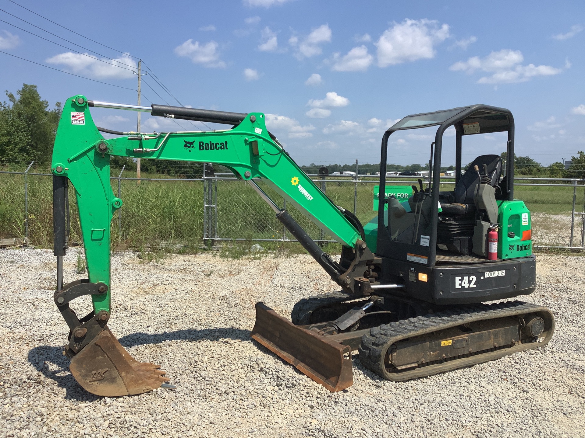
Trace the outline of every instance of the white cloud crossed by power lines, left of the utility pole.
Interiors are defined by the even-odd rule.
[[[128,79],[134,76],[132,69],[137,70],[136,61],[128,53],[124,53],[118,58],[108,59],[98,58],[87,53],[66,52],[48,58],[46,62],[49,62],[49,64],[64,65],[66,69],[75,74],[99,79]]]

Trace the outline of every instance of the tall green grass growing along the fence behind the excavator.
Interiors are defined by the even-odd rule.
[[[149,178],[153,175],[143,175]],[[160,175],[158,175],[160,177]],[[118,181],[112,180],[114,193]],[[318,183],[320,185],[320,183]],[[367,223],[373,211],[374,183],[357,185],[357,217]],[[407,184],[407,185],[410,185]],[[279,206],[283,200],[269,186],[260,186]],[[336,205],[353,211],[355,184],[335,181],[327,183],[326,193]],[[445,185],[442,190],[452,190]],[[75,205],[74,188],[70,187],[71,242],[81,243],[80,227]],[[245,239],[225,241],[221,256],[238,258],[261,257],[267,253],[290,255],[304,252],[293,242],[256,242],[254,239],[291,238],[276,219],[274,211],[257,196],[252,187],[236,180],[219,180],[218,190],[218,237]],[[29,176],[29,241],[36,246],[50,248],[53,244],[51,178]],[[515,197],[523,199],[533,213],[570,215],[573,203],[572,187],[516,186]],[[112,248],[138,249],[145,261],[159,260],[168,252],[192,253],[201,250],[203,235],[203,183],[200,181],[136,181],[122,180],[123,207],[113,217],[111,224]],[[577,211],[583,211],[584,188],[577,188]],[[291,204],[287,210],[314,239],[321,238],[321,230]],[[121,232],[119,217],[121,214]],[[22,175],[0,174],[0,238],[24,237],[24,179]],[[326,233],[324,239],[332,239]],[[252,251],[258,243],[263,251]],[[338,244],[328,245],[329,252],[339,252]],[[147,255],[148,253],[153,255]]]

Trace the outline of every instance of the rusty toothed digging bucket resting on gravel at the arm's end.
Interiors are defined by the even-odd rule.
[[[106,328],[71,359],[75,380],[102,397],[152,391],[168,381],[160,365],[135,360]]]

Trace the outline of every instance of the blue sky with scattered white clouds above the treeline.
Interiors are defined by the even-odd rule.
[[[585,150],[583,1],[17,3],[0,1],[0,50],[130,89],[142,58],[143,105],[179,105],[176,97],[185,106],[266,113],[299,164],[377,163],[395,120],[473,103],[511,109],[518,155],[549,164]],[[135,91],[0,53],[2,90],[23,83],[38,85],[51,105],[77,93],[136,103]],[[101,126],[136,128],[134,113],[93,114]],[[181,130],[144,114],[142,126]],[[433,130],[393,135],[388,161],[427,161],[432,137]],[[505,149],[501,135],[465,140],[464,162]],[[447,147],[443,163],[453,161]]]

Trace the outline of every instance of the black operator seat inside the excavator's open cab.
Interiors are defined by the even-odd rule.
[[[495,187],[500,182],[500,175],[502,173],[502,159],[499,155],[480,155],[473,160],[469,165],[467,171],[457,182],[455,192],[453,192],[453,202],[441,203],[443,215],[464,215],[470,211],[474,211],[471,207],[474,203],[474,197],[479,184],[479,175],[474,169],[474,166],[479,168],[481,175],[483,175],[483,165],[487,166],[487,175],[490,175],[490,185]]]

